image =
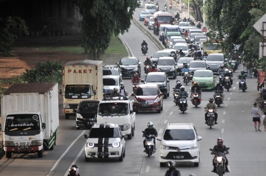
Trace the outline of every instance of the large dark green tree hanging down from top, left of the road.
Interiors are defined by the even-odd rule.
[[[82,46],[87,53],[106,50],[111,36],[128,31],[137,0],[75,0],[82,15]]]

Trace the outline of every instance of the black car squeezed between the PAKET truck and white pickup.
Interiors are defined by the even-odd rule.
[[[91,128],[97,122],[97,111],[100,100],[81,101],[76,113],[76,129]]]

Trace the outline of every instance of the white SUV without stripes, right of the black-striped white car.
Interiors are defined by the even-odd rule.
[[[194,163],[199,166],[199,141],[193,123],[168,123],[163,134],[160,147],[160,166],[175,161],[178,163]]]

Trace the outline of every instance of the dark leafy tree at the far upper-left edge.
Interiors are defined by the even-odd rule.
[[[19,17],[0,18],[0,53],[11,55],[10,45],[17,39],[16,31],[29,34],[25,21]]]

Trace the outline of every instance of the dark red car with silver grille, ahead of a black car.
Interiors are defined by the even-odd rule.
[[[133,111],[157,111],[161,113],[163,110],[163,97],[164,93],[156,84],[139,85],[136,89],[133,100]]]

